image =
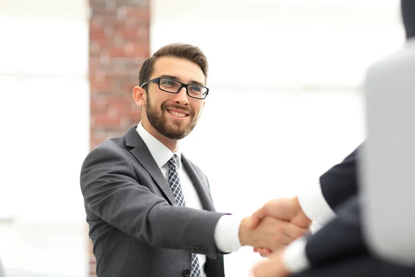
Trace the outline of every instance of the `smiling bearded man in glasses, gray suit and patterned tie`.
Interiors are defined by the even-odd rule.
[[[306,231],[275,218],[249,229],[250,217],[214,211],[208,178],[179,149],[205,105],[207,76],[199,48],[160,48],[133,89],[141,122],[84,160],[80,184],[99,277],[221,277],[223,254],[242,245],[276,250]]]

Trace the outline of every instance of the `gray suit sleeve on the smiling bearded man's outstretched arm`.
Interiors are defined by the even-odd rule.
[[[80,176],[86,209],[153,247],[216,258],[214,228],[223,214],[172,206],[137,180],[123,153],[105,146],[94,149]]]

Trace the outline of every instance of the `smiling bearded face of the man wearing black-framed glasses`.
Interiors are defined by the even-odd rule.
[[[205,75],[197,64],[177,57],[160,57],[150,79],[156,77],[169,77],[185,84],[205,84]],[[188,96],[185,88],[173,94],[160,90],[158,84],[148,84],[146,95],[143,112],[147,120],[158,133],[171,140],[189,135],[205,105],[205,100]]]

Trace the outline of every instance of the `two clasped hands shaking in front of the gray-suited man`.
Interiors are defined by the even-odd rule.
[[[302,211],[297,198],[271,200],[252,216],[243,218],[239,227],[241,245],[250,245],[265,257],[285,249],[293,240],[308,232],[311,220]]]

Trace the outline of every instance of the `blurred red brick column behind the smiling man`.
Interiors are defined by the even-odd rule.
[[[91,149],[140,120],[132,98],[149,57],[149,0],[89,0]],[[91,249],[90,275],[95,276]]]

